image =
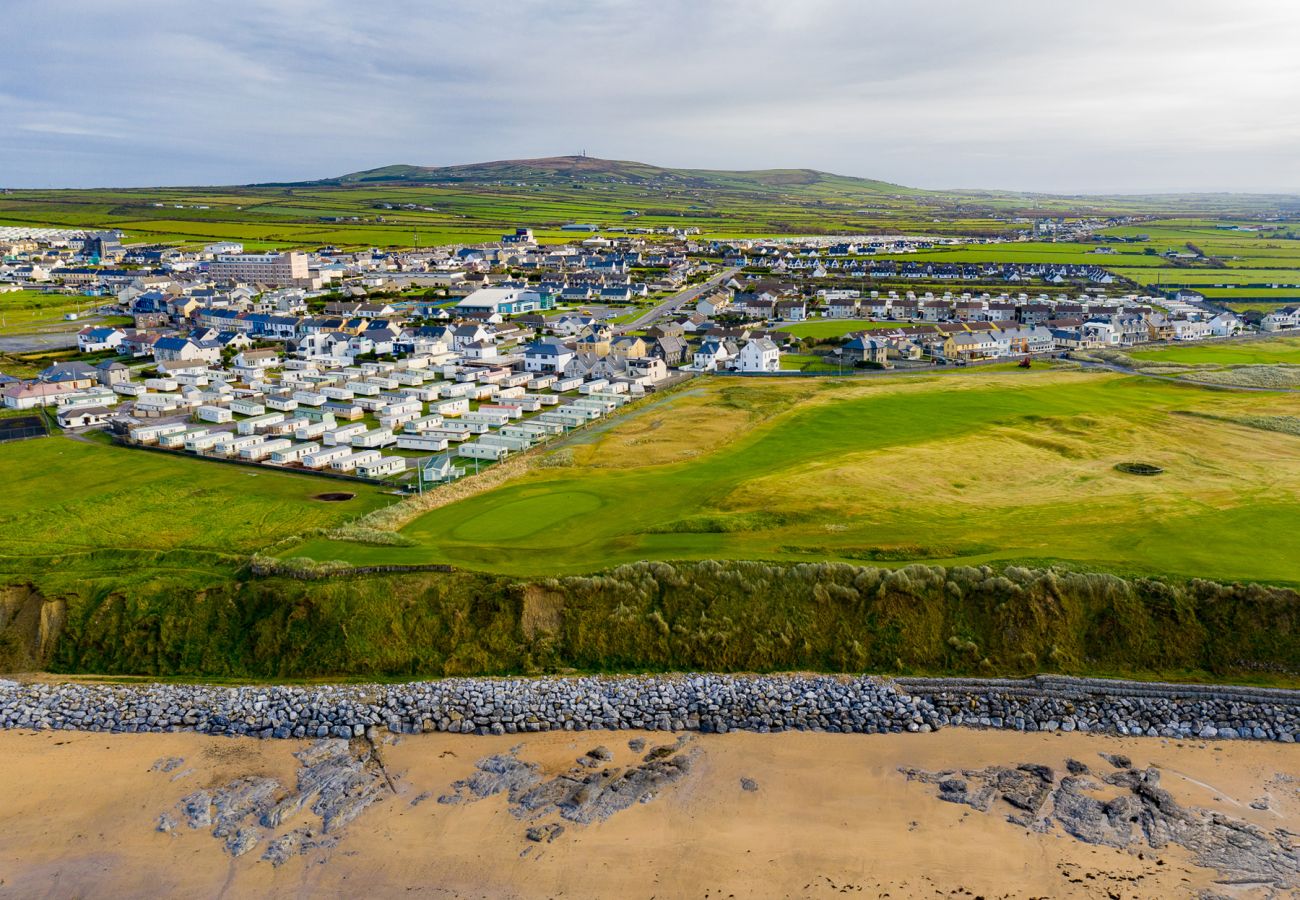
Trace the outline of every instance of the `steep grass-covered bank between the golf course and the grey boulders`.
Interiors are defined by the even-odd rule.
[[[1295,592],[1014,567],[641,563],[532,584],[419,574],[203,589],[164,576],[126,590],[78,585],[60,601],[30,590],[8,600],[29,618],[42,603],[61,605],[55,671],[286,679],[1046,670],[1273,684],[1295,684],[1300,671]],[[0,627],[0,671],[17,637]]]

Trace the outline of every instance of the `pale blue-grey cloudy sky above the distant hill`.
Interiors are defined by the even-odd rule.
[[[592,156],[1300,192],[1283,0],[5,0],[0,187]]]

